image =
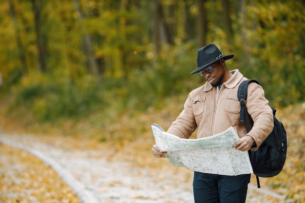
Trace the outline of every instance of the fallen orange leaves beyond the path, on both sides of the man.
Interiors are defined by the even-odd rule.
[[[41,141],[59,148],[97,149],[110,161],[129,161],[137,166],[169,169],[164,159],[152,156],[154,144],[151,125],[167,129],[179,115],[184,98],[164,101],[167,108],[149,108],[145,112],[96,112],[80,121],[63,121],[56,126],[21,121],[14,115],[0,118],[0,126],[18,133],[34,133]],[[5,106],[5,105],[4,105]],[[1,110],[1,108],[0,108]],[[3,111],[3,109],[2,109]],[[305,202],[305,103],[278,109],[277,118],[287,131],[287,159],[283,171],[272,178],[260,178],[261,187],[272,189],[296,203]],[[11,120],[10,120],[11,119]],[[12,119],[14,122],[12,122]],[[24,118],[23,118],[24,119]],[[14,125],[13,125],[14,124]],[[251,180],[255,183],[255,179]]]

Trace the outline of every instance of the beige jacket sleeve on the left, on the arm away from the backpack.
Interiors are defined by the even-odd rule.
[[[168,133],[176,135],[180,138],[189,138],[197,128],[195,117],[193,115],[190,94],[184,103],[184,110],[181,111],[176,120],[172,122],[171,127],[167,131]]]

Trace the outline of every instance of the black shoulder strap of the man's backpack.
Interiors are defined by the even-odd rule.
[[[239,123],[243,124],[244,122],[246,123],[246,128],[247,131],[250,131],[250,126],[248,122],[248,115],[247,115],[247,108],[246,108],[246,99],[248,95],[248,84],[249,82],[255,82],[260,85],[260,83],[254,79],[247,79],[244,80],[238,87],[237,91],[237,98],[240,103],[240,117],[239,117]]]

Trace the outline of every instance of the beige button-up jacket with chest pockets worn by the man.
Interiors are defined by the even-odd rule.
[[[251,136],[257,145],[251,150],[257,150],[273,129],[272,110],[263,88],[256,83],[249,83],[246,107],[254,124],[247,134],[245,125],[239,123],[240,103],[237,99],[239,84],[247,78],[237,69],[231,73],[232,77],[222,85],[220,91],[209,82],[193,90],[184,104],[184,110],[167,132],[189,138],[198,127],[199,139],[223,132],[232,126],[239,137]]]

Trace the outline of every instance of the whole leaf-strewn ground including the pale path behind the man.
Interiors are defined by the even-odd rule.
[[[0,203],[192,203],[192,171],[151,152],[152,123],[167,129],[183,99],[55,124],[37,122],[26,108],[7,113],[10,102],[0,102],[0,140],[15,143],[0,144]],[[247,203],[305,203],[305,103],[277,117],[287,131],[285,166],[261,178],[260,189],[252,175]]]

